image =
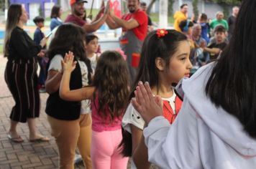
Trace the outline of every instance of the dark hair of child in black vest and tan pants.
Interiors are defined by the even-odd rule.
[[[72,32],[72,34],[70,33]],[[68,51],[73,52],[74,56],[86,63],[88,69],[88,83],[91,84],[91,62],[86,57],[86,32],[75,24],[60,25],[55,33],[55,37],[50,42],[47,56],[51,60],[56,54],[65,56]]]

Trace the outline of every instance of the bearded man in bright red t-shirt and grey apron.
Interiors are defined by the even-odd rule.
[[[140,9],[140,0],[127,0],[128,14],[122,19],[109,10],[109,17],[106,19],[110,29],[122,27],[122,36],[119,38],[120,47],[127,55],[127,66],[131,81],[137,74],[137,66],[140,62],[142,43],[147,36],[147,14]]]

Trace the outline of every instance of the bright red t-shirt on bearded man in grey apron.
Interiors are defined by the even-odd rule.
[[[141,9],[134,11],[134,13],[124,14],[122,19],[129,21],[129,19],[135,19],[140,26],[132,29],[132,32],[136,35],[136,37],[140,40],[144,40],[147,36],[147,14],[145,11]],[[126,29],[122,29],[123,32],[127,32]]]

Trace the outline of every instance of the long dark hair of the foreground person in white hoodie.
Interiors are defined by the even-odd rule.
[[[256,1],[244,0],[229,45],[214,65],[206,95],[256,138]]]

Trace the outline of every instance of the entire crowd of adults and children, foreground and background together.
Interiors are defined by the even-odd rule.
[[[15,101],[11,141],[24,141],[19,122],[27,122],[29,141],[49,141],[36,129],[39,92],[47,92],[59,168],[74,168],[76,148],[86,168],[127,168],[129,158],[131,168],[256,166],[256,1],[234,6],[228,21],[221,11],[212,21],[206,14],[188,19],[183,4],[174,29],[154,29],[140,0],[127,0],[121,18],[102,1],[92,20],[84,3],[70,0],[64,21],[61,7],[53,6],[47,36],[45,19],[35,17],[34,39],[24,31],[24,7],[9,6],[4,57]],[[122,28],[121,49],[99,49],[93,32],[104,23]]]

